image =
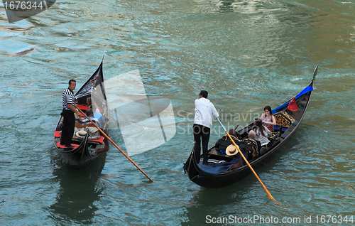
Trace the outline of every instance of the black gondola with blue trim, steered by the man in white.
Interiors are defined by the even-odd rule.
[[[272,110],[272,113],[277,121],[277,125],[274,127],[273,138],[269,142],[270,145],[262,148],[263,154],[261,154],[260,151],[260,154],[257,156],[249,156],[248,158],[248,161],[254,170],[261,168],[268,163],[268,161],[275,156],[277,151],[282,149],[282,147],[286,144],[286,141],[290,139],[297,129],[298,125],[305,116],[305,112],[310,102],[315,77],[317,76],[317,70],[318,65],[315,68],[310,85],[305,87],[305,89],[295,97],[295,102],[297,104],[296,111],[290,111],[288,109],[288,104],[293,98]],[[236,134],[239,135],[239,140],[247,139],[248,132],[252,127],[253,122],[238,130]],[[187,158],[187,161],[184,164],[185,173],[187,173],[192,182],[205,188],[222,188],[224,186],[231,185],[232,183],[236,183],[237,181],[241,181],[241,179],[251,173],[251,169],[245,162],[238,168],[231,170],[225,167],[228,166],[229,162],[233,162],[236,156],[228,156],[223,154],[221,151],[217,151],[216,145],[209,149],[209,164],[207,165],[200,164],[202,163],[202,159],[200,160],[200,163],[197,162],[195,159],[195,146],[192,149],[189,158]],[[244,154],[244,156],[246,156],[246,154]],[[226,170],[224,171],[223,167],[219,167],[219,165],[224,166]],[[219,168],[222,168],[222,171],[216,170]]]

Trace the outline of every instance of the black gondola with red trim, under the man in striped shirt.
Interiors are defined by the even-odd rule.
[[[102,62],[74,96],[78,100],[78,108],[83,112],[89,107],[87,105],[87,97],[91,97],[93,110],[101,113],[106,119],[106,123],[102,124],[102,129],[107,134],[109,108],[104,87]],[[60,145],[62,119],[61,116],[57,127],[55,127],[54,145],[60,158],[68,167],[86,168],[99,157],[100,153],[109,150],[107,139],[100,134],[94,124],[92,122],[82,122],[80,119],[75,119],[75,131],[71,143],[74,148],[66,148],[64,145]]]

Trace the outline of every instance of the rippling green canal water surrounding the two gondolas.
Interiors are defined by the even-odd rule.
[[[336,0],[64,0],[8,23],[0,4],[1,225],[354,225],[354,11]],[[80,87],[105,49],[105,79],[138,69],[147,95],[171,99],[173,139],[132,156],[155,183],[113,145],[81,171],[53,145],[67,81]],[[244,126],[297,95],[318,64],[302,123],[256,171],[282,206],[253,175],[219,189],[187,178],[200,90],[226,126]],[[209,146],[223,134],[212,129]]]

